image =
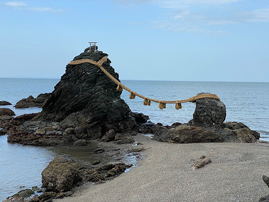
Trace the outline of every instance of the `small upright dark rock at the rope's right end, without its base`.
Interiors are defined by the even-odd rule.
[[[193,119],[188,123],[189,125],[218,127],[223,124],[226,117],[226,107],[222,101],[214,98],[202,98],[196,100],[195,103],[196,108],[193,113]]]

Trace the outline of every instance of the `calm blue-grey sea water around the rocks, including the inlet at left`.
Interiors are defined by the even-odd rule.
[[[11,102],[17,115],[40,112],[40,108],[15,109],[13,106],[29,95],[37,97],[40,93],[51,92],[59,82],[57,79],[9,79],[0,78],[0,101]],[[250,129],[261,134],[261,139],[269,141],[269,83],[243,82],[180,82],[180,81],[122,81],[128,88],[139,94],[159,100],[187,99],[200,92],[217,94],[226,105],[225,121],[245,123]],[[133,112],[149,115],[154,123],[171,125],[175,122],[186,123],[192,119],[195,104],[183,103],[182,109],[175,110],[174,104],[167,104],[160,110],[157,103],[144,106],[143,99],[129,99],[129,93],[121,96]],[[21,190],[20,186],[31,188],[41,185],[41,172],[47,164],[60,154],[69,153],[87,164],[92,147],[80,151],[67,146],[47,148],[22,146],[6,142],[7,135],[0,136],[0,201]],[[87,158],[88,157],[88,158]],[[91,157],[92,158],[92,157]],[[93,157],[94,158],[94,157]],[[97,157],[96,157],[97,158]]]

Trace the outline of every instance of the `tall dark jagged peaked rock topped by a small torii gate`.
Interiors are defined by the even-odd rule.
[[[88,50],[74,60],[90,59],[97,62],[107,56],[102,51]],[[103,67],[118,79],[110,63],[108,60]],[[81,136],[78,138],[86,139],[101,139],[111,129],[115,133],[138,131],[136,121],[130,118],[131,110],[116,88],[117,85],[108,76],[90,63],[67,65],[66,73],[35,120],[79,126],[77,136]]]

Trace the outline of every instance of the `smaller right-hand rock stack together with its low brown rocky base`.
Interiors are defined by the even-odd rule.
[[[243,123],[224,123],[226,107],[223,102],[213,98],[202,98],[195,102],[196,108],[192,120],[175,128],[153,126],[157,130],[153,139],[173,143],[231,141],[252,143],[260,138],[259,133],[250,130]]]

